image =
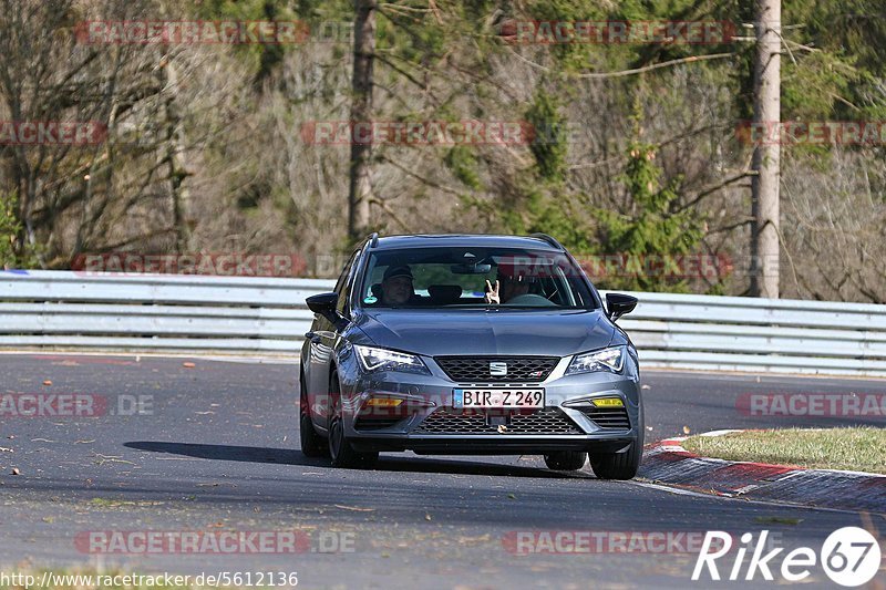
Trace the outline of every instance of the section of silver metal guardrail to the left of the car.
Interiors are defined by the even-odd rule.
[[[296,358],[330,281],[0,272],[0,348]]]

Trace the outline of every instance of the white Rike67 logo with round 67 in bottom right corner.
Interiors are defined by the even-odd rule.
[[[781,560],[781,567],[776,568],[776,557],[784,551],[780,547],[766,553],[766,538],[769,531],[763,530],[754,542],[752,532],[741,536],[741,545],[734,551],[734,561],[730,558],[724,559],[728,569],[722,576],[730,581],[745,580],[752,581],[758,572],[764,580],[773,581],[773,570],[781,573],[783,580],[789,582],[803,581],[810,576],[814,568],[821,566],[831,580],[839,586],[854,588],[869,582],[879,570],[882,553],[877,539],[868,531],[858,527],[844,527],[832,532],[822,545],[822,550],[816,553],[810,547],[799,547]],[[692,571],[692,580],[698,581],[709,578],[720,581],[721,570],[718,569],[718,559],[730,553],[732,549],[732,536],[721,530],[708,531],[701,546],[701,552],[696,561],[696,569]],[[744,572],[745,556],[751,552]],[[730,566],[731,562],[731,567]],[[707,570],[707,575],[705,575]],[[744,576],[742,576],[744,573]]]

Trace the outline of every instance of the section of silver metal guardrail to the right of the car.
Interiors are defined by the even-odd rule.
[[[642,366],[886,376],[886,306],[633,293]]]

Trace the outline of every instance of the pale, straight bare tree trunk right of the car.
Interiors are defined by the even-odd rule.
[[[781,20],[781,0],[756,0],[754,128],[769,131],[754,147],[753,157],[756,174],[751,183],[754,217],[751,294],[773,299],[779,298]]]

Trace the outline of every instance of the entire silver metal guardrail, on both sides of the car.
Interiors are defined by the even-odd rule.
[[[296,358],[312,279],[0,272],[0,348]],[[886,306],[632,293],[643,368],[886,376]]]

